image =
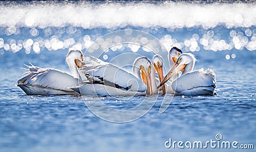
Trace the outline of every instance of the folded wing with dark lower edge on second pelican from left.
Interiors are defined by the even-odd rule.
[[[79,69],[93,83],[104,84],[127,91],[146,91],[145,84],[131,73],[118,66],[93,58]]]

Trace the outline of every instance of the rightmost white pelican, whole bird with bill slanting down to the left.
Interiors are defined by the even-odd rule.
[[[181,54],[175,65],[157,88],[161,87],[166,81],[173,77],[173,75],[183,71],[179,79],[174,80],[172,83],[172,89],[175,90],[175,95],[214,95],[216,87],[215,73],[210,69],[192,72],[195,61],[196,59],[193,54]]]

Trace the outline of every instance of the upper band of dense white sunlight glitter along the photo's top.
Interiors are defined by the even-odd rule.
[[[231,28],[255,26],[256,20],[253,4],[246,3],[204,5],[166,1],[158,4],[56,3],[50,5],[34,2],[29,5],[22,3],[7,5],[1,7],[0,12],[1,26],[8,26],[8,33],[19,33],[17,26],[44,29],[51,26],[63,27],[68,24],[84,29],[115,28],[127,25],[161,26],[173,29],[196,26],[214,28],[219,24]],[[60,15],[61,18],[58,18]],[[115,20],[113,20],[114,16]],[[71,28],[71,31],[75,32],[76,28]]]

